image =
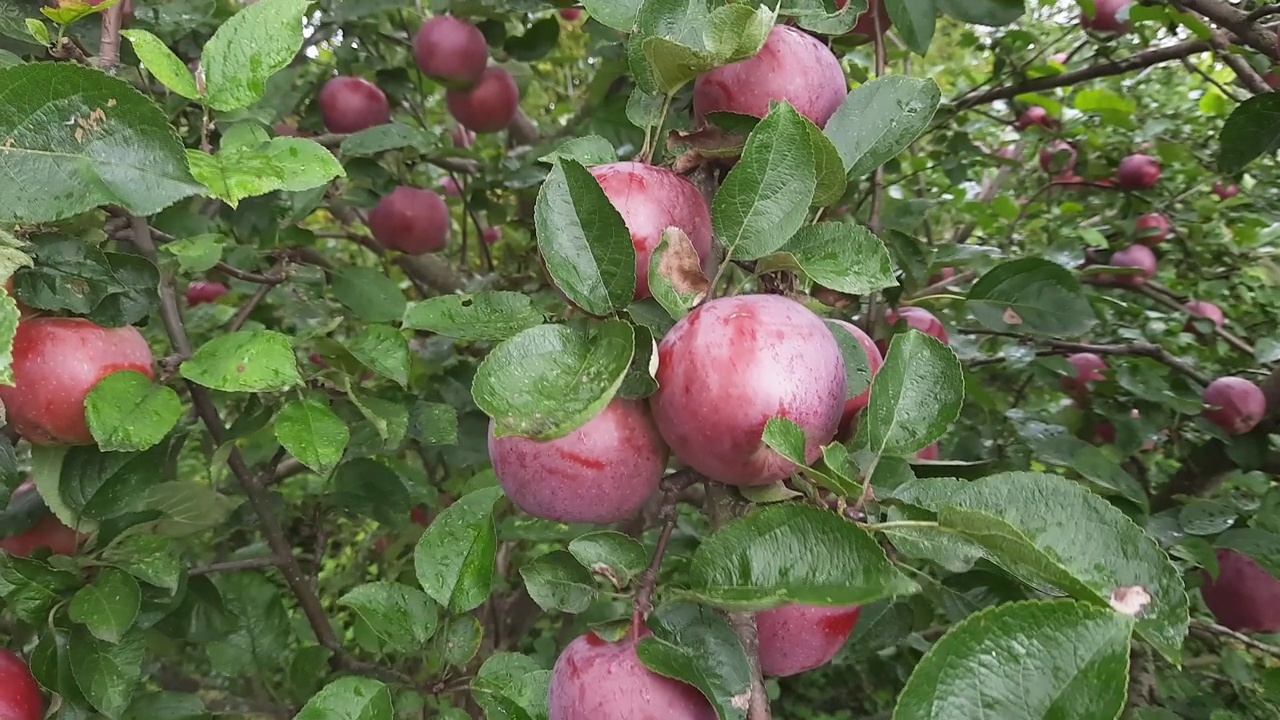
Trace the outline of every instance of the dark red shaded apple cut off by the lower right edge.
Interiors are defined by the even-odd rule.
[[[1252,557],[1220,547],[1217,578],[1201,570],[1201,597],[1221,625],[1240,633],[1280,633],[1280,579]]]

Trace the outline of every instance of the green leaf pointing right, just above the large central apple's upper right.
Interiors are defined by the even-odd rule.
[[[856,223],[815,223],[800,228],[758,273],[791,270],[838,292],[868,295],[895,287],[893,263],[876,233]]]

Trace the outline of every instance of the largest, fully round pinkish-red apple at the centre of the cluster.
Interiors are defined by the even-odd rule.
[[[845,409],[845,361],[808,307],[777,295],[719,297],[695,307],[658,346],[649,398],[663,439],[695,470],[732,486],[760,486],[795,470],[762,441],[783,416],[805,434],[812,462]]]

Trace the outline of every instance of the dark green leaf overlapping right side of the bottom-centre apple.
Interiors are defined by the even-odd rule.
[[[646,624],[653,635],[636,643],[640,662],[701,691],[723,720],[746,717],[741,698],[750,693],[751,661],[721,614],[675,602],[658,607]]]

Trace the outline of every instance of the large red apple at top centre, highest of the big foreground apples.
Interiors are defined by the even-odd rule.
[[[804,31],[773,26],[754,58],[716,68],[694,81],[694,124],[703,126],[708,113],[763,118],[771,100],[786,100],[823,127],[846,95],[845,70],[831,49]]]

